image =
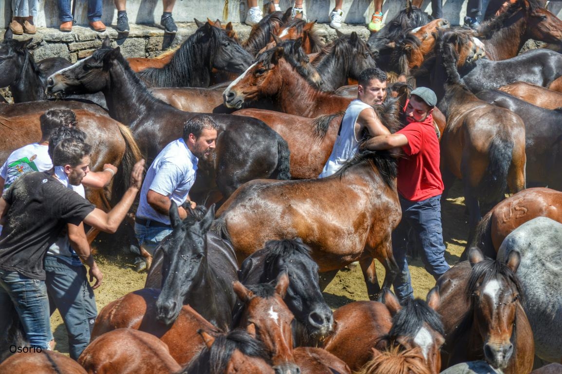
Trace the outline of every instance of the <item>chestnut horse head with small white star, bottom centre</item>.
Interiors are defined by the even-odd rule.
[[[246,305],[241,324],[254,325],[256,334],[271,353],[276,374],[300,374],[293,357],[293,313],[283,298],[289,285],[289,276],[282,273],[277,285],[269,283],[248,286],[234,282],[234,292]]]

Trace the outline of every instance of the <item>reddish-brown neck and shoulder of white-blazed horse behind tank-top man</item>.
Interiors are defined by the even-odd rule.
[[[332,114],[345,110],[350,103],[349,98],[322,92],[318,88],[312,87],[305,78],[293,70],[288,62],[284,61],[279,65],[282,66],[283,77],[283,84],[277,97],[280,111],[314,118],[321,114]],[[334,105],[337,106],[335,110],[331,109]]]

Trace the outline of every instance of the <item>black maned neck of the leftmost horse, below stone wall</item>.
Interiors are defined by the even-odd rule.
[[[35,65],[33,57],[28,51],[25,52],[24,60],[21,66],[21,74],[10,89],[14,102],[28,102],[45,100],[46,79],[39,67]]]

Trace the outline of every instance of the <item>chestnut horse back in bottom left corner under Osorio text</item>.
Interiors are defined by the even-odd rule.
[[[33,351],[33,348],[30,348]],[[86,374],[76,361],[52,350],[16,353],[0,363],[0,373],[10,374]]]

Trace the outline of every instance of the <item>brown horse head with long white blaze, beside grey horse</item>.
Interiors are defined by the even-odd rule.
[[[504,264],[484,259],[481,251],[473,247],[468,258],[472,271],[465,297],[470,300],[473,311],[473,333],[482,337],[486,361],[495,368],[504,369],[514,354],[516,309],[522,296],[515,275],[520,255],[511,252]]]

